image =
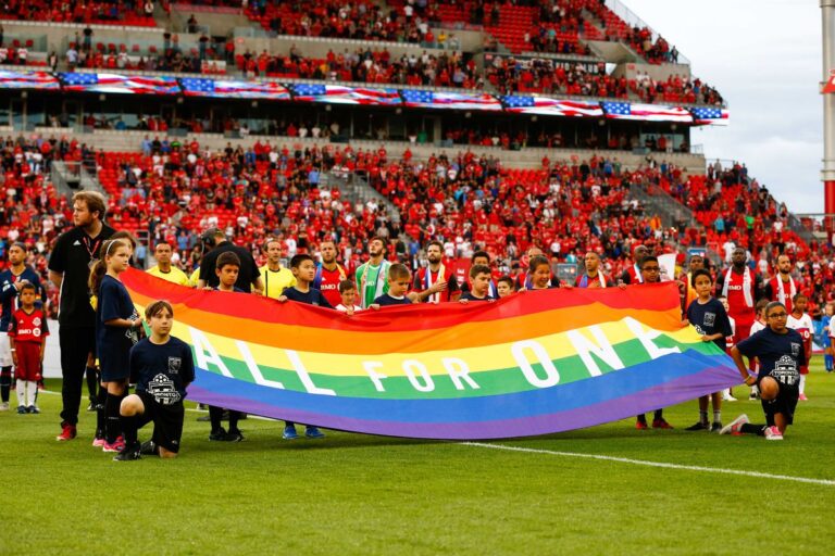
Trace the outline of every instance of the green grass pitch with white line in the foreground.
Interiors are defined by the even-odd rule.
[[[179,458],[115,463],[90,446],[92,414],[55,442],[60,396],[43,394],[41,415],[0,414],[0,554],[831,554],[835,483],[719,471],[835,480],[835,374],[814,363],[783,442],[685,432],[693,402],[665,412],[673,431],[624,420],[489,443],[560,454],[333,431],[286,442],[252,418],[246,442],[219,444],[189,412]],[[723,420],[761,421],[736,393]]]

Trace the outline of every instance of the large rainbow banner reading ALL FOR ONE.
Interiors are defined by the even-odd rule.
[[[529,291],[347,316],[128,270],[191,345],[192,401],[372,434],[497,439],[589,427],[737,384],[674,283]]]

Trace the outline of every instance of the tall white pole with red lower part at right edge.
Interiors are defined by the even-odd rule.
[[[821,0],[823,83],[835,70],[835,0]],[[835,93],[823,97],[823,212],[835,215]]]

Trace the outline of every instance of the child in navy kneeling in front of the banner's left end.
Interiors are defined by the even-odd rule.
[[[171,336],[174,309],[166,301],[154,301],[145,309],[151,336],[130,350],[130,374],[136,393],[122,401],[120,414],[125,447],[113,459],[139,459],[140,453],[176,457],[183,437],[186,387],[195,380],[191,349]],[[153,421],[151,440],[140,444],[138,430]]]

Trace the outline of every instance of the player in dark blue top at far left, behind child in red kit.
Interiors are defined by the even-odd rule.
[[[0,273],[0,303],[3,308],[0,317],[0,410],[3,412],[9,409],[12,386],[13,362],[8,330],[12,314],[20,307],[21,288],[24,283],[32,283],[36,292],[40,293],[41,301],[46,300],[38,273],[25,264],[26,245],[14,242],[9,247],[8,253],[9,268]]]

